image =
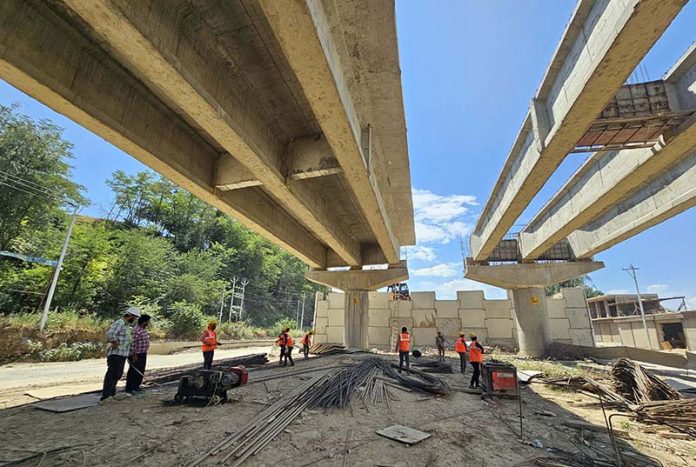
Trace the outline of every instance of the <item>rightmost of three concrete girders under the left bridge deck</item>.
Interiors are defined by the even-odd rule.
[[[341,63],[322,2],[259,0],[259,5],[387,261],[398,263],[399,242],[363,152],[369,122],[359,121],[346,84],[350,70]]]

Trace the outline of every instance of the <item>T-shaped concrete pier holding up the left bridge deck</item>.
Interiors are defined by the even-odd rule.
[[[315,269],[307,272],[305,277],[317,284],[345,292],[343,343],[346,347],[367,350],[370,326],[369,292],[408,279],[408,269],[406,261],[401,261],[399,264],[389,265],[387,269]]]

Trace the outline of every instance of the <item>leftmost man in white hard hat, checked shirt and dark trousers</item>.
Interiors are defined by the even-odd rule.
[[[104,389],[100,400],[108,399],[116,394],[116,384],[123,376],[123,368],[130,356],[131,326],[136,318],[140,317],[140,309],[130,307],[123,318],[119,318],[106,332],[106,340],[109,348],[106,351],[106,375],[104,376]]]

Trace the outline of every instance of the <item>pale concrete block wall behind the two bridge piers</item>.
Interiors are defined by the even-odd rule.
[[[563,289],[547,298],[553,340],[592,346],[590,320],[581,289]],[[343,294],[317,301],[315,342],[343,344]],[[415,346],[434,346],[441,331],[453,343],[460,332],[475,333],[487,345],[517,347],[511,298],[487,300],[483,291],[459,291],[456,300],[437,300],[435,292],[413,292],[411,300],[392,302],[386,292],[370,292],[370,347],[394,345],[397,329],[409,328]]]

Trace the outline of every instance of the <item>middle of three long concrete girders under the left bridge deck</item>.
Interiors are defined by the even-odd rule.
[[[285,142],[249,96],[227,86],[229,63],[204,56],[206,28],[184,28],[167,1],[63,0],[153,91],[171,102],[232,154],[279,204],[348,265],[361,264],[360,244],[321,193],[286,181]],[[336,110],[336,109],[334,109]]]

